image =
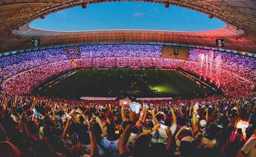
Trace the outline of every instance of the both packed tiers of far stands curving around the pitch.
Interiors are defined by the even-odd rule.
[[[0,58],[0,77],[9,94],[30,94],[39,84],[70,69],[105,67],[182,68],[209,79],[232,96],[247,95],[255,87],[254,58],[190,49],[188,60],[175,60],[161,58],[162,50],[162,46],[110,44],[30,52]]]

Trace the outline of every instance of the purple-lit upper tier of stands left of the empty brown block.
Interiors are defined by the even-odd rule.
[[[162,46],[137,45],[137,44],[110,44],[81,46],[70,48],[56,48],[40,50],[0,58],[0,82],[33,67],[39,67],[47,63],[69,60],[72,58],[106,58],[106,57],[154,57],[161,56]],[[108,65],[108,63],[106,63]],[[102,66],[102,65],[100,65]],[[12,69],[12,70],[10,70]]]

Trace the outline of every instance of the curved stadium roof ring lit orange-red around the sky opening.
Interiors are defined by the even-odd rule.
[[[108,1],[108,0],[105,0]],[[179,0],[159,1],[165,7],[177,5],[197,10],[219,18],[227,26],[210,31],[150,31],[150,30],[106,30],[106,31],[44,31],[28,26],[37,18],[58,10],[81,5],[86,8],[91,3],[102,0],[3,0],[0,2],[0,52],[31,47],[32,37],[41,39],[41,46],[74,43],[100,42],[157,42],[179,43],[215,47],[216,39],[225,39],[224,48],[256,53],[256,1],[213,1]]]

